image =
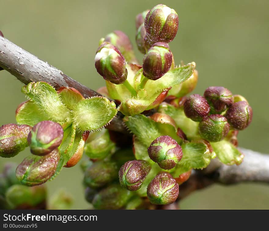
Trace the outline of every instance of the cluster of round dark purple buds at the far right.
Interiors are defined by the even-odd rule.
[[[183,105],[186,117],[199,122],[199,133],[210,142],[223,140],[230,129],[243,130],[252,121],[252,108],[243,96],[224,87],[209,87],[204,96],[189,96]]]

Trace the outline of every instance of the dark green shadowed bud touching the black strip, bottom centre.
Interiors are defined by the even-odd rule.
[[[130,198],[130,191],[120,185],[111,185],[96,194],[92,204],[96,209],[120,209]]]

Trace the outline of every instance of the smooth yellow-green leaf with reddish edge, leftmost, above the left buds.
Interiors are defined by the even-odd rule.
[[[44,120],[49,120],[49,117],[30,100],[21,103],[16,110],[16,121],[19,125],[27,124],[33,127]]]

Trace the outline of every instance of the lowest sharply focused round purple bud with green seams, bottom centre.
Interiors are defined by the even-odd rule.
[[[153,178],[147,188],[147,196],[152,204],[171,204],[179,195],[179,185],[169,173],[160,173]]]

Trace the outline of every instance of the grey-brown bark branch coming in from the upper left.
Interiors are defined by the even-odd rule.
[[[61,70],[40,60],[2,36],[0,36],[1,68],[7,70],[25,85],[30,82],[43,81],[52,85],[56,90],[61,86],[76,88],[85,98],[101,96],[98,92],[80,84]],[[122,117],[121,113],[118,113],[106,128],[127,133]]]

